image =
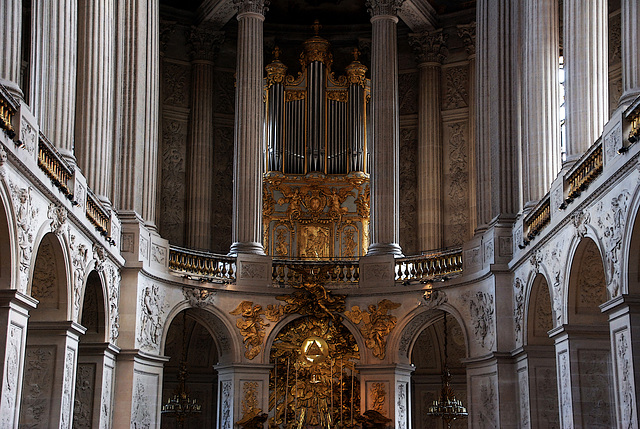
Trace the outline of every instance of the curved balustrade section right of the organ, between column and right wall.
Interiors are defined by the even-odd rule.
[[[428,282],[462,273],[462,248],[398,258],[396,281]]]

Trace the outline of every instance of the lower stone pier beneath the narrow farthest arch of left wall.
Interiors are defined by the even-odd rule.
[[[110,343],[80,343],[73,408],[74,427],[112,427],[114,376],[119,351]]]

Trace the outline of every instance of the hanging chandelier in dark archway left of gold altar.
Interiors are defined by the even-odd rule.
[[[189,396],[186,389],[187,373],[187,312],[182,313],[182,353],[178,363],[178,387],[173,395],[162,406],[162,415],[176,419],[178,428],[184,428],[185,420],[195,417],[202,412],[202,406],[197,399]]]

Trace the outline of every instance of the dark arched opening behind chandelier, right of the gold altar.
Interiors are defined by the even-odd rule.
[[[446,365],[444,317],[447,318]],[[451,373],[451,387],[456,399],[467,405],[467,375],[462,360],[467,356],[462,327],[448,313],[437,316],[416,339],[411,351],[411,362],[416,370],[411,376],[413,388],[413,427],[446,428],[441,418],[427,415],[434,400],[439,399],[445,366]],[[468,427],[467,419],[454,420],[452,428]]]

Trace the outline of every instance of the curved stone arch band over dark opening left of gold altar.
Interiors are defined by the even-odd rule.
[[[177,304],[164,321],[162,329],[162,339],[160,340],[160,350],[166,347],[168,330],[174,319],[183,311],[190,310],[189,315],[198,323],[203,325],[211,335],[219,354],[218,363],[237,362],[244,352],[242,343],[233,334],[233,326],[220,311],[211,306],[197,307],[189,304],[189,301],[182,301]]]

